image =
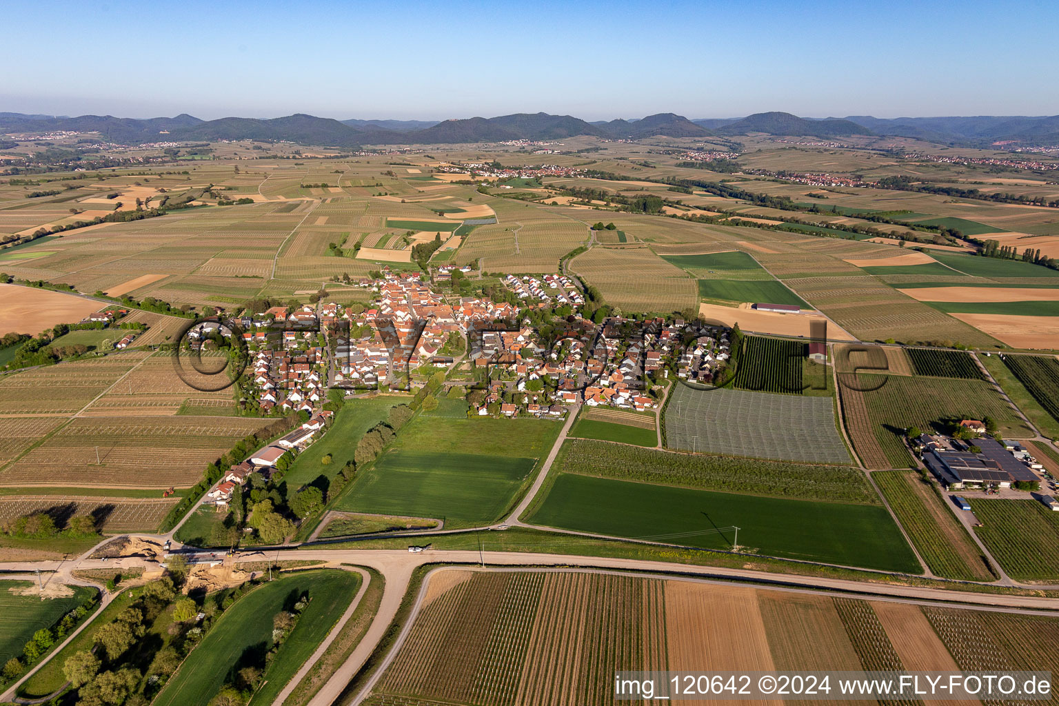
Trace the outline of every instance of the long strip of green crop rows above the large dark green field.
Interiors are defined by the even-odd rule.
[[[682,454],[593,439],[569,439],[559,470],[706,490],[879,504],[864,474],[854,468]]]

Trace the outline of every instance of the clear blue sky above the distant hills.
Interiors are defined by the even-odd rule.
[[[10,2],[0,111],[1056,114],[1059,2]]]

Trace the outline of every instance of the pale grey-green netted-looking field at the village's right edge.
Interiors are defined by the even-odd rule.
[[[677,384],[665,409],[666,446],[734,456],[849,464],[827,397]]]

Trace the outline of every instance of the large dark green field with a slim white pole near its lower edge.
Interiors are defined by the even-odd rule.
[[[919,573],[885,509],[712,492],[561,473],[528,522],[560,529]],[[703,533],[696,533],[703,532]],[[744,549],[746,550],[746,549]]]

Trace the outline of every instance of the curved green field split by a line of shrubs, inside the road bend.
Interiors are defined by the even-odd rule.
[[[255,704],[272,703],[330,631],[359,586],[359,575],[341,571],[282,576],[263,584],[225,612],[152,703],[205,704],[232,671],[247,665],[264,667],[265,652],[272,644],[272,616],[307,593],[308,605],[266,670],[267,683],[254,694]]]

